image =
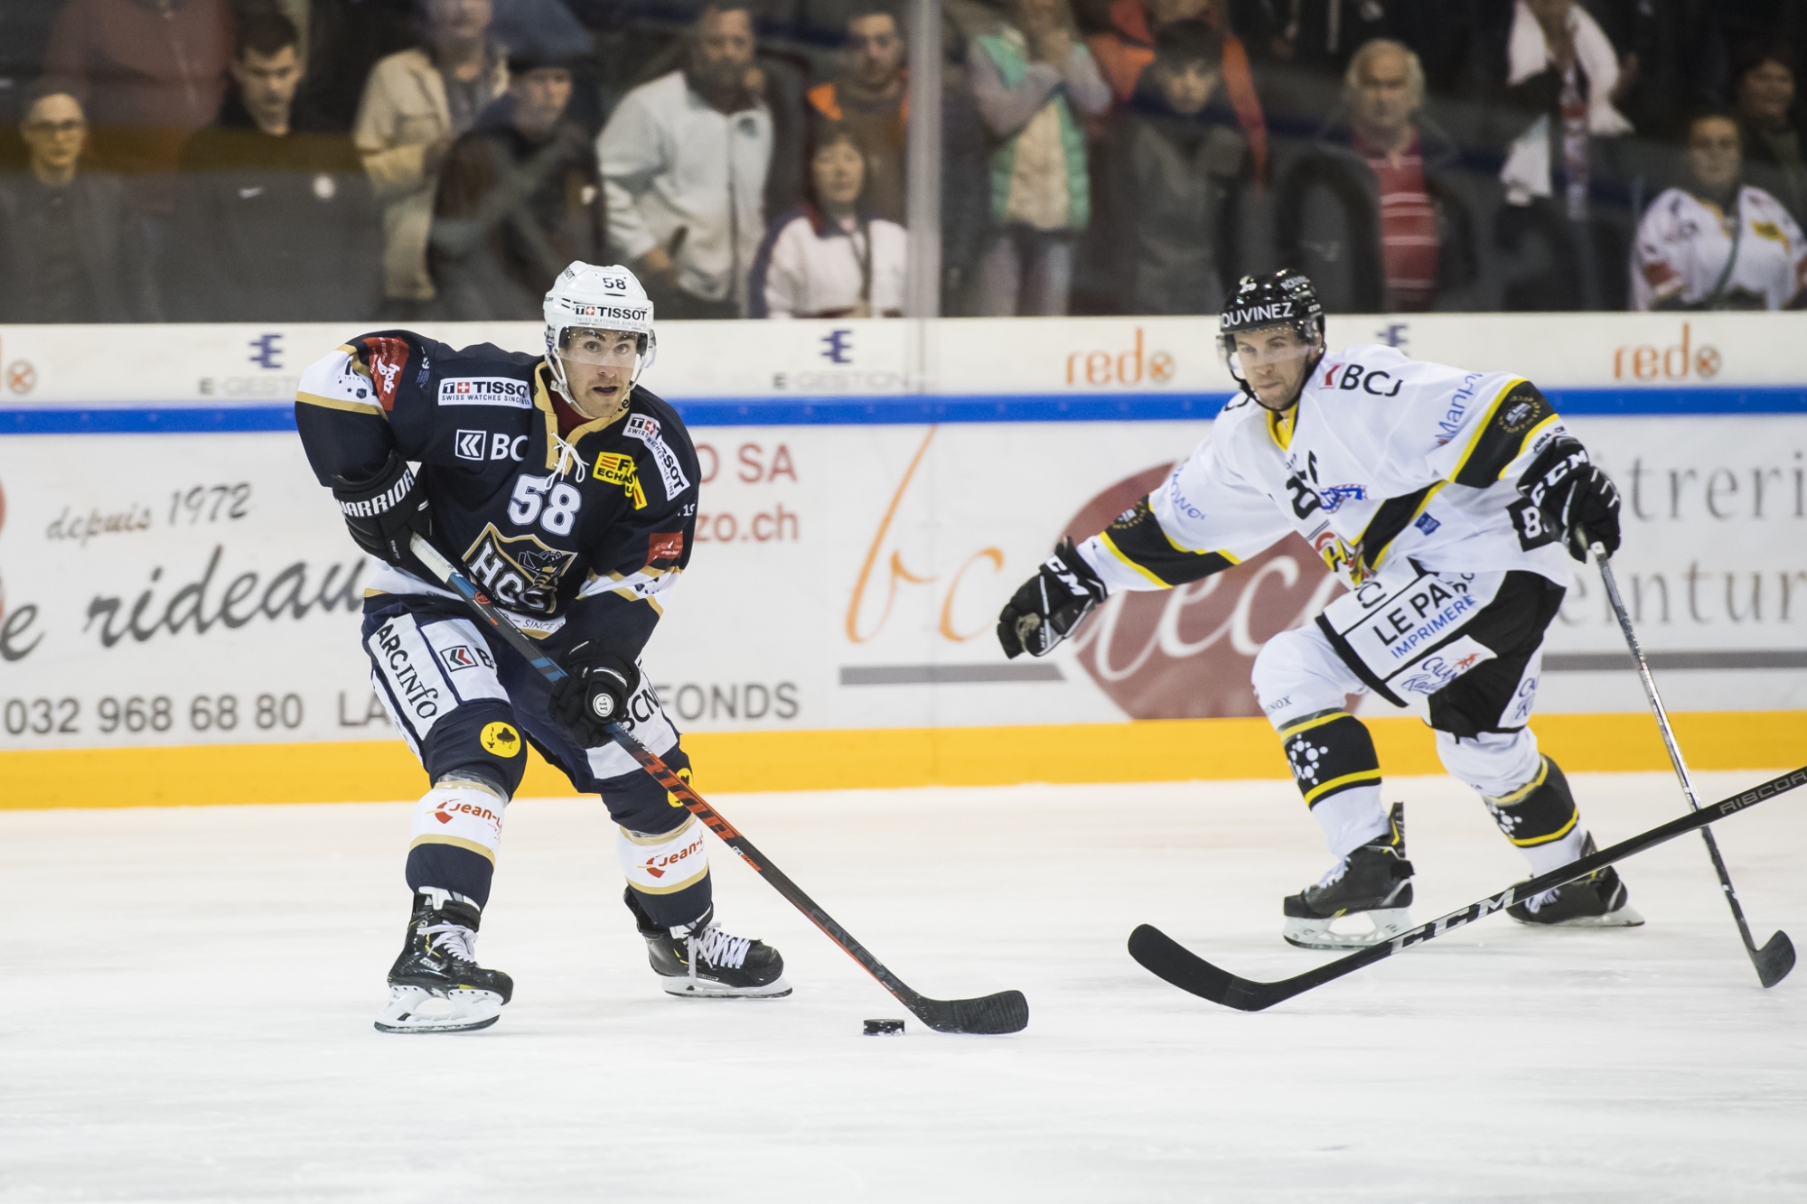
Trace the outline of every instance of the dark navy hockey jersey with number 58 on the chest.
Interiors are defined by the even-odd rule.
[[[618,414],[560,437],[549,389],[535,354],[378,331],[302,374],[295,421],[325,486],[378,475],[390,450],[417,461],[434,546],[528,635],[573,624],[632,660],[661,613],[656,595],[690,562],[696,448],[640,387]],[[387,566],[370,584],[445,593]]]

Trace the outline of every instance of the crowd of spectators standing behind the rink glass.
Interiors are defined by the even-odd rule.
[[[938,0],[941,313],[1807,307],[1807,0]],[[0,322],[894,316],[913,0],[11,0]]]

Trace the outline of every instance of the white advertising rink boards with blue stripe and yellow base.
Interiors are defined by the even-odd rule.
[[[1690,756],[1726,768],[1793,765],[1807,738],[1796,331],[1762,315],[1332,322],[1334,342],[1536,365],[1626,494],[1621,586],[1670,707],[1717,725]],[[282,401],[347,334],[0,329],[0,432],[22,432],[0,437],[0,806],[121,783],[172,803],[417,792],[358,647],[369,560]],[[1290,537],[1113,598],[1041,662],[1005,662],[992,635],[1057,537],[1099,530],[1209,432],[1231,387],[1211,334],[1167,318],[661,327],[649,383],[692,423],[703,504],[645,667],[717,788],[1281,772],[1249,669],[1339,589]],[[96,338],[108,356],[85,354]],[[1641,723],[1637,759],[1578,736],[1563,756],[1594,759],[1574,768],[1662,765],[1590,568],[1543,667],[1547,739]],[[1361,714],[1397,716],[1415,734],[1393,743],[1422,745],[1404,772],[1435,770],[1413,720],[1372,698]]]

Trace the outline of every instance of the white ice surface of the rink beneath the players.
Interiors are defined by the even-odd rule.
[[[1702,774],[1722,797],[1767,774]],[[705,790],[707,790],[707,783]],[[1447,779],[1395,779],[1418,918],[1523,877]],[[1681,812],[1576,777],[1601,842]],[[0,814],[0,1200],[1803,1200],[1807,971],[1762,991],[1697,837],[1648,926],[1503,917],[1269,1012],[1135,965],[1142,920],[1254,978],[1323,871],[1287,783],[726,795],[905,982],[1019,987],[940,1036],[712,844],[790,1000],[663,996],[580,801],[510,808],[495,1029],[383,1036],[405,804]],[[1807,792],[1717,824],[1758,940],[1807,938]]]

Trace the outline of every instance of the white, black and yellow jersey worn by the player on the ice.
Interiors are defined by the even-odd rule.
[[[1390,564],[1531,569],[1568,586],[1568,553],[1520,492],[1587,456],[1521,376],[1355,345],[1326,354],[1281,418],[1231,401],[1166,484],[1079,553],[1119,589],[1164,589],[1297,531],[1362,584]]]

